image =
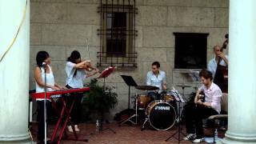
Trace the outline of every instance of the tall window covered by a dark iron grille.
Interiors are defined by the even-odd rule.
[[[101,0],[98,12],[101,15],[101,51],[98,66],[137,67],[135,52],[135,0]]]

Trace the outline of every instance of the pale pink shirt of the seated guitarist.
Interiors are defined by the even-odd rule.
[[[210,102],[210,106],[219,114],[221,112],[222,90],[214,82],[211,83],[209,89],[203,85],[199,90],[205,93],[205,102]]]

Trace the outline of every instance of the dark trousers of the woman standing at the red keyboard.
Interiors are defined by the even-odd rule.
[[[44,101],[37,101],[38,108],[38,141],[45,138],[45,122],[44,122]],[[50,116],[51,102],[46,101],[46,118]],[[46,119],[46,127],[47,127]]]

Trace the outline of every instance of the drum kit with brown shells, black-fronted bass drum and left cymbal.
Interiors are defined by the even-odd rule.
[[[136,86],[135,88],[138,90],[155,90],[156,92],[158,90],[156,86]],[[148,94],[136,94],[134,101],[136,115],[144,120],[142,130],[145,129],[146,122],[149,122],[155,130],[169,130],[174,126],[177,112],[176,102],[171,93],[162,92],[160,100],[154,100]],[[137,110],[142,111],[142,113],[138,113]]]

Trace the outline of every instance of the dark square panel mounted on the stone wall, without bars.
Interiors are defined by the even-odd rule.
[[[175,69],[206,68],[207,37],[209,34],[174,33]]]

